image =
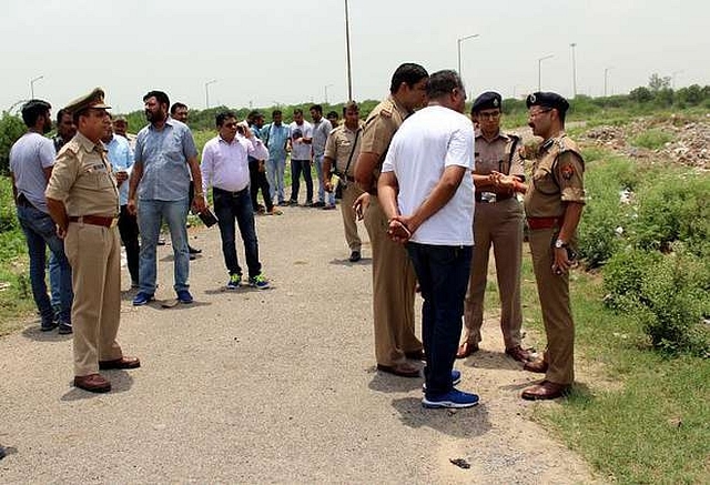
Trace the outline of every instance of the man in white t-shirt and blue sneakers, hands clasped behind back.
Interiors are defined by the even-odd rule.
[[[388,233],[406,243],[424,306],[425,407],[470,407],[478,396],[456,390],[454,360],[474,245],[474,129],[455,71],[427,81],[427,108],[395,133],[377,183]]]

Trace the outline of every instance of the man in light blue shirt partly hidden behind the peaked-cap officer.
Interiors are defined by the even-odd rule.
[[[109,118],[113,120],[110,113]],[[115,174],[115,184],[119,188],[119,204],[121,213],[119,215],[119,232],[121,241],[125,247],[125,259],[131,274],[131,289],[139,287],[139,251],[138,243],[138,219],[128,211],[129,202],[129,176],[133,166],[133,150],[129,141],[123,137],[113,134],[113,123],[110,131],[101,139],[106,150],[109,150],[109,162]]]

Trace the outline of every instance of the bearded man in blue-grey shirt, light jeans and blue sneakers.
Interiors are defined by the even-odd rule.
[[[163,220],[170,229],[173,245],[173,289],[178,301],[189,304],[193,299],[189,290],[190,253],[185,223],[191,175],[199,190],[193,206],[197,212],[205,209],[197,149],[190,129],[168,115],[168,94],[150,91],[143,97],[143,102],[150,124],[138,133],[126,204],[131,214],[138,213],[141,232],[140,291],[133,299],[133,305],[144,305],[154,299],[155,246]]]

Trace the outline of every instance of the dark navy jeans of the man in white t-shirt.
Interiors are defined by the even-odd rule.
[[[426,355],[426,394],[452,390],[452,368],[462,334],[464,297],[468,286],[473,246],[407,243],[424,304],[422,340]]]

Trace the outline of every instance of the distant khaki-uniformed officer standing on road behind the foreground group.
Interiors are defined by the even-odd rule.
[[[335,128],[328,134],[325,142],[323,158],[324,186],[327,192],[333,191],[331,172],[339,179],[343,188],[341,213],[343,214],[343,228],[345,229],[345,242],[351,250],[349,261],[355,263],[361,260],[362,241],[357,234],[357,216],[353,204],[362,195],[363,191],[355,183],[354,169],[359,153],[361,139],[364,123],[359,120],[359,108],[355,101],[349,101],[343,107],[345,122]]]

